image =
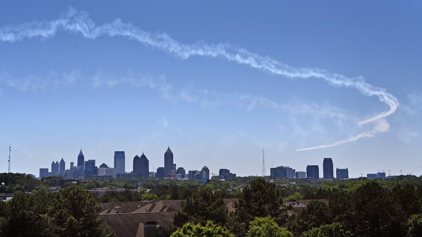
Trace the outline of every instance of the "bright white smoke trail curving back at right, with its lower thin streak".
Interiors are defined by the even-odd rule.
[[[379,97],[381,102],[386,103],[390,107],[390,110],[361,121],[357,123],[357,125],[367,124],[389,116],[395,112],[399,105],[396,97],[387,93],[383,88],[375,87],[366,83],[362,77],[347,78],[344,75],[317,68],[295,68],[279,62],[276,59],[262,57],[249,52],[246,49],[233,48],[230,45],[223,43],[206,44],[203,42],[197,42],[195,44],[183,44],[177,42],[165,33],[153,34],[151,32],[141,30],[138,27],[133,26],[131,23],[122,22],[121,19],[115,19],[111,23],[96,25],[95,22],[89,18],[87,12],[76,11],[75,8],[69,8],[69,11],[62,14],[57,20],[43,22],[34,21],[16,26],[3,27],[0,29],[0,41],[13,43],[24,40],[25,38],[52,38],[59,30],[81,34],[85,38],[90,39],[95,39],[101,36],[126,37],[131,40],[137,40],[144,45],[152,46],[162,51],[175,54],[181,59],[188,59],[191,56],[223,57],[229,61],[238,62],[240,64],[248,65],[249,67],[254,67],[289,78],[321,78],[334,86],[352,87],[365,95],[376,95]],[[333,144],[338,145],[341,143],[347,143],[349,141],[357,140],[360,137],[368,137],[368,135],[356,135],[348,140]]]

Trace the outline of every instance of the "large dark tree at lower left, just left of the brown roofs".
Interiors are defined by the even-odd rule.
[[[109,228],[103,226],[100,210],[93,194],[81,186],[69,186],[53,199],[49,210],[52,230],[60,237],[110,237],[114,232],[106,233]]]

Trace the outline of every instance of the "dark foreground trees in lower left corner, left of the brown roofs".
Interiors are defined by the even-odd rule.
[[[46,195],[18,191],[11,200],[0,202],[0,236],[111,237],[114,232],[103,226],[100,210],[95,196],[77,185]]]

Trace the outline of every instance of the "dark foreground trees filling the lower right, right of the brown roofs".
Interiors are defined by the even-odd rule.
[[[230,236],[242,233],[286,237],[294,234],[306,237],[420,236],[422,186],[415,182],[385,186],[380,181],[361,180],[340,184],[341,188],[336,185],[308,191],[300,198],[328,199],[329,205],[319,200],[310,201],[298,216],[287,214],[293,207],[283,205],[281,192],[285,188],[263,179],[255,179],[251,186],[243,189],[236,210],[231,213],[222,198],[201,189],[181,203],[182,210],[174,215],[173,226],[169,229],[173,237],[195,236],[192,234],[195,229],[199,234],[206,231],[215,234],[219,229],[229,232]],[[297,193],[290,197],[294,196],[302,195]]]

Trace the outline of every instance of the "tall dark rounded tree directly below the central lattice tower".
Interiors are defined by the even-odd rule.
[[[287,220],[287,211],[283,200],[274,183],[268,183],[262,178],[252,180],[251,186],[243,189],[239,202],[236,203],[238,222],[247,230],[249,223],[255,217],[271,216],[277,224],[284,224]]]

